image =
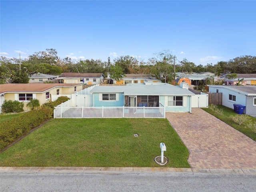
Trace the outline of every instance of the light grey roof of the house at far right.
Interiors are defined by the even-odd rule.
[[[236,91],[238,93],[254,96],[256,95],[256,86],[236,86],[236,85],[207,85],[214,88],[225,88],[228,90]]]

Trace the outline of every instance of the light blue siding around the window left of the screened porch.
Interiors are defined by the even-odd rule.
[[[108,93],[103,93],[108,94]],[[110,93],[112,94],[112,93]],[[93,106],[94,107],[122,107],[124,106],[124,94],[116,93],[116,100],[102,100],[100,99],[100,93],[93,94]]]

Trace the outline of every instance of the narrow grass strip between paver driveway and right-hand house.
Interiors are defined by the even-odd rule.
[[[232,116],[237,115],[233,109],[222,106],[222,105],[218,105],[217,107],[223,110],[223,115],[216,114],[216,112],[212,111],[210,108],[202,108],[202,109],[205,110],[206,112],[216,116],[218,119],[222,120],[226,124],[232,126],[236,130],[242,132],[246,136],[248,136],[248,137],[252,138],[254,141],[256,141],[256,133],[254,133],[250,128],[248,128],[248,125],[247,125],[249,122],[256,122],[255,117],[248,115],[249,120],[247,122],[245,122],[244,124],[238,125],[231,118]]]

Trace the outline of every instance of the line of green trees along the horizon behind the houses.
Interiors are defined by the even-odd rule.
[[[256,56],[239,56],[216,64],[196,65],[184,58],[178,61],[169,50],[154,54],[148,61],[132,56],[120,56],[112,62],[100,59],[72,60],[60,58],[55,49],[35,52],[26,59],[0,57],[0,84],[28,83],[28,77],[35,73],[59,75],[64,72],[103,73],[118,80],[124,74],[152,74],[156,78],[166,77],[174,81],[176,72],[212,72],[215,76],[222,73],[256,73]]]

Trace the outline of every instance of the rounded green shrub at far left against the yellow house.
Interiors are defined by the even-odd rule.
[[[12,100],[4,100],[2,104],[2,112],[3,113],[18,113],[22,112],[24,103],[19,101],[12,101]]]

